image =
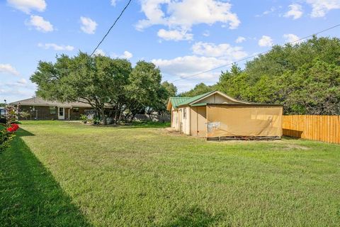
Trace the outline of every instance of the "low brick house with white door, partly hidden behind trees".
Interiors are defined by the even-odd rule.
[[[39,96],[14,101],[11,106],[18,107],[18,112],[27,112],[28,120],[77,120],[81,114],[94,112],[90,104],[82,102],[47,101]],[[19,116],[19,120],[25,118]]]

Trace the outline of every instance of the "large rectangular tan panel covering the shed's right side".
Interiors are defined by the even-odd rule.
[[[207,106],[208,137],[281,136],[280,106]]]

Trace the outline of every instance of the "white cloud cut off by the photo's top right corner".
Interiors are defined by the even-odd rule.
[[[339,0],[306,0],[312,6],[312,17],[323,17],[331,9],[340,9]]]

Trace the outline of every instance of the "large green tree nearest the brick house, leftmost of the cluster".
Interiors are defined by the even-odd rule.
[[[79,52],[75,57],[58,56],[54,64],[39,62],[30,80],[38,84],[42,98],[90,104],[106,124],[105,107],[119,103],[131,70],[128,60]]]

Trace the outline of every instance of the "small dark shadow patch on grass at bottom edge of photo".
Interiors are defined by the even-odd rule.
[[[212,215],[206,211],[203,211],[198,206],[193,206],[190,209],[179,211],[179,215],[174,217],[173,221],[166,223],[164,227],[205,227],[214,226],[214,223],[218,221],[221,215]]]

